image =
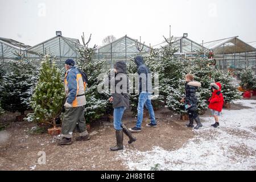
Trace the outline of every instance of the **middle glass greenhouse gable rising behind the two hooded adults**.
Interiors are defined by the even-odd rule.
[[[125,35],[114,42],[98,48],[94,60],[106,60],[106,68],[111,68],[115,61],[130,61],[129,57],[138,53],[150,53],[150,47]]]

